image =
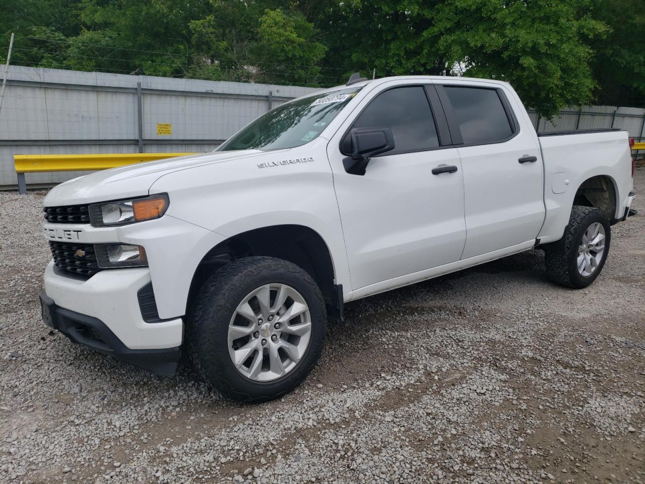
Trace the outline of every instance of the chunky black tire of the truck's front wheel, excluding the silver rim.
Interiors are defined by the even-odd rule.
[[[270,283],[289,285],[304,297],[312,329],[296,367],[281,378],[254,381],[233,366],[228,327],[244,297]],[[239,401],[267,401],[290,392],[306,378],[323,350],[327,316],[321,290],[307,272],[283,259],[244,257],[225,265],[199,289],[187,316],[186,346],[195,369],[213,388]]]

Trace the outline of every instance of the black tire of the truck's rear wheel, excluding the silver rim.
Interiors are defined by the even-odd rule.
[[[578,249],[582,235],[596,222],[602,224],[605,231],[604,252],[596,270],[589,276],[583,276],[577,266]],[[610,242],[611,227],[602,210],[574,205],[571,208],[569,223],[564,229],[562,239],[544,246],[546,272],[551,281],[575,289],[587,287],[595,281],[604,267],[609,254]]]

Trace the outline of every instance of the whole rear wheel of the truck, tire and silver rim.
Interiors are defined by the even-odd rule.
[[[602,210],[574,205],[562,239],[546,245],[546,272],[566,287],[584,288],[599,276],[611,242]]]

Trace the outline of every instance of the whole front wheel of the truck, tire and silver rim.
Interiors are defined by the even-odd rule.
[[[217,270],[187,318],[188,353],[224,396],[266,401],[299,385],[323,349],[321,291],[302,268],[245,257]]]

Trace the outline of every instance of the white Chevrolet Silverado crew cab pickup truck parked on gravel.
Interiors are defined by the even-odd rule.
[[[255,119],[217,150],[53,188],[45,323],[224,395],[303,381],[343,304],[541,247],[590,285],[634,197],[628,134],[536,134],[501,81],[356,79]]]

